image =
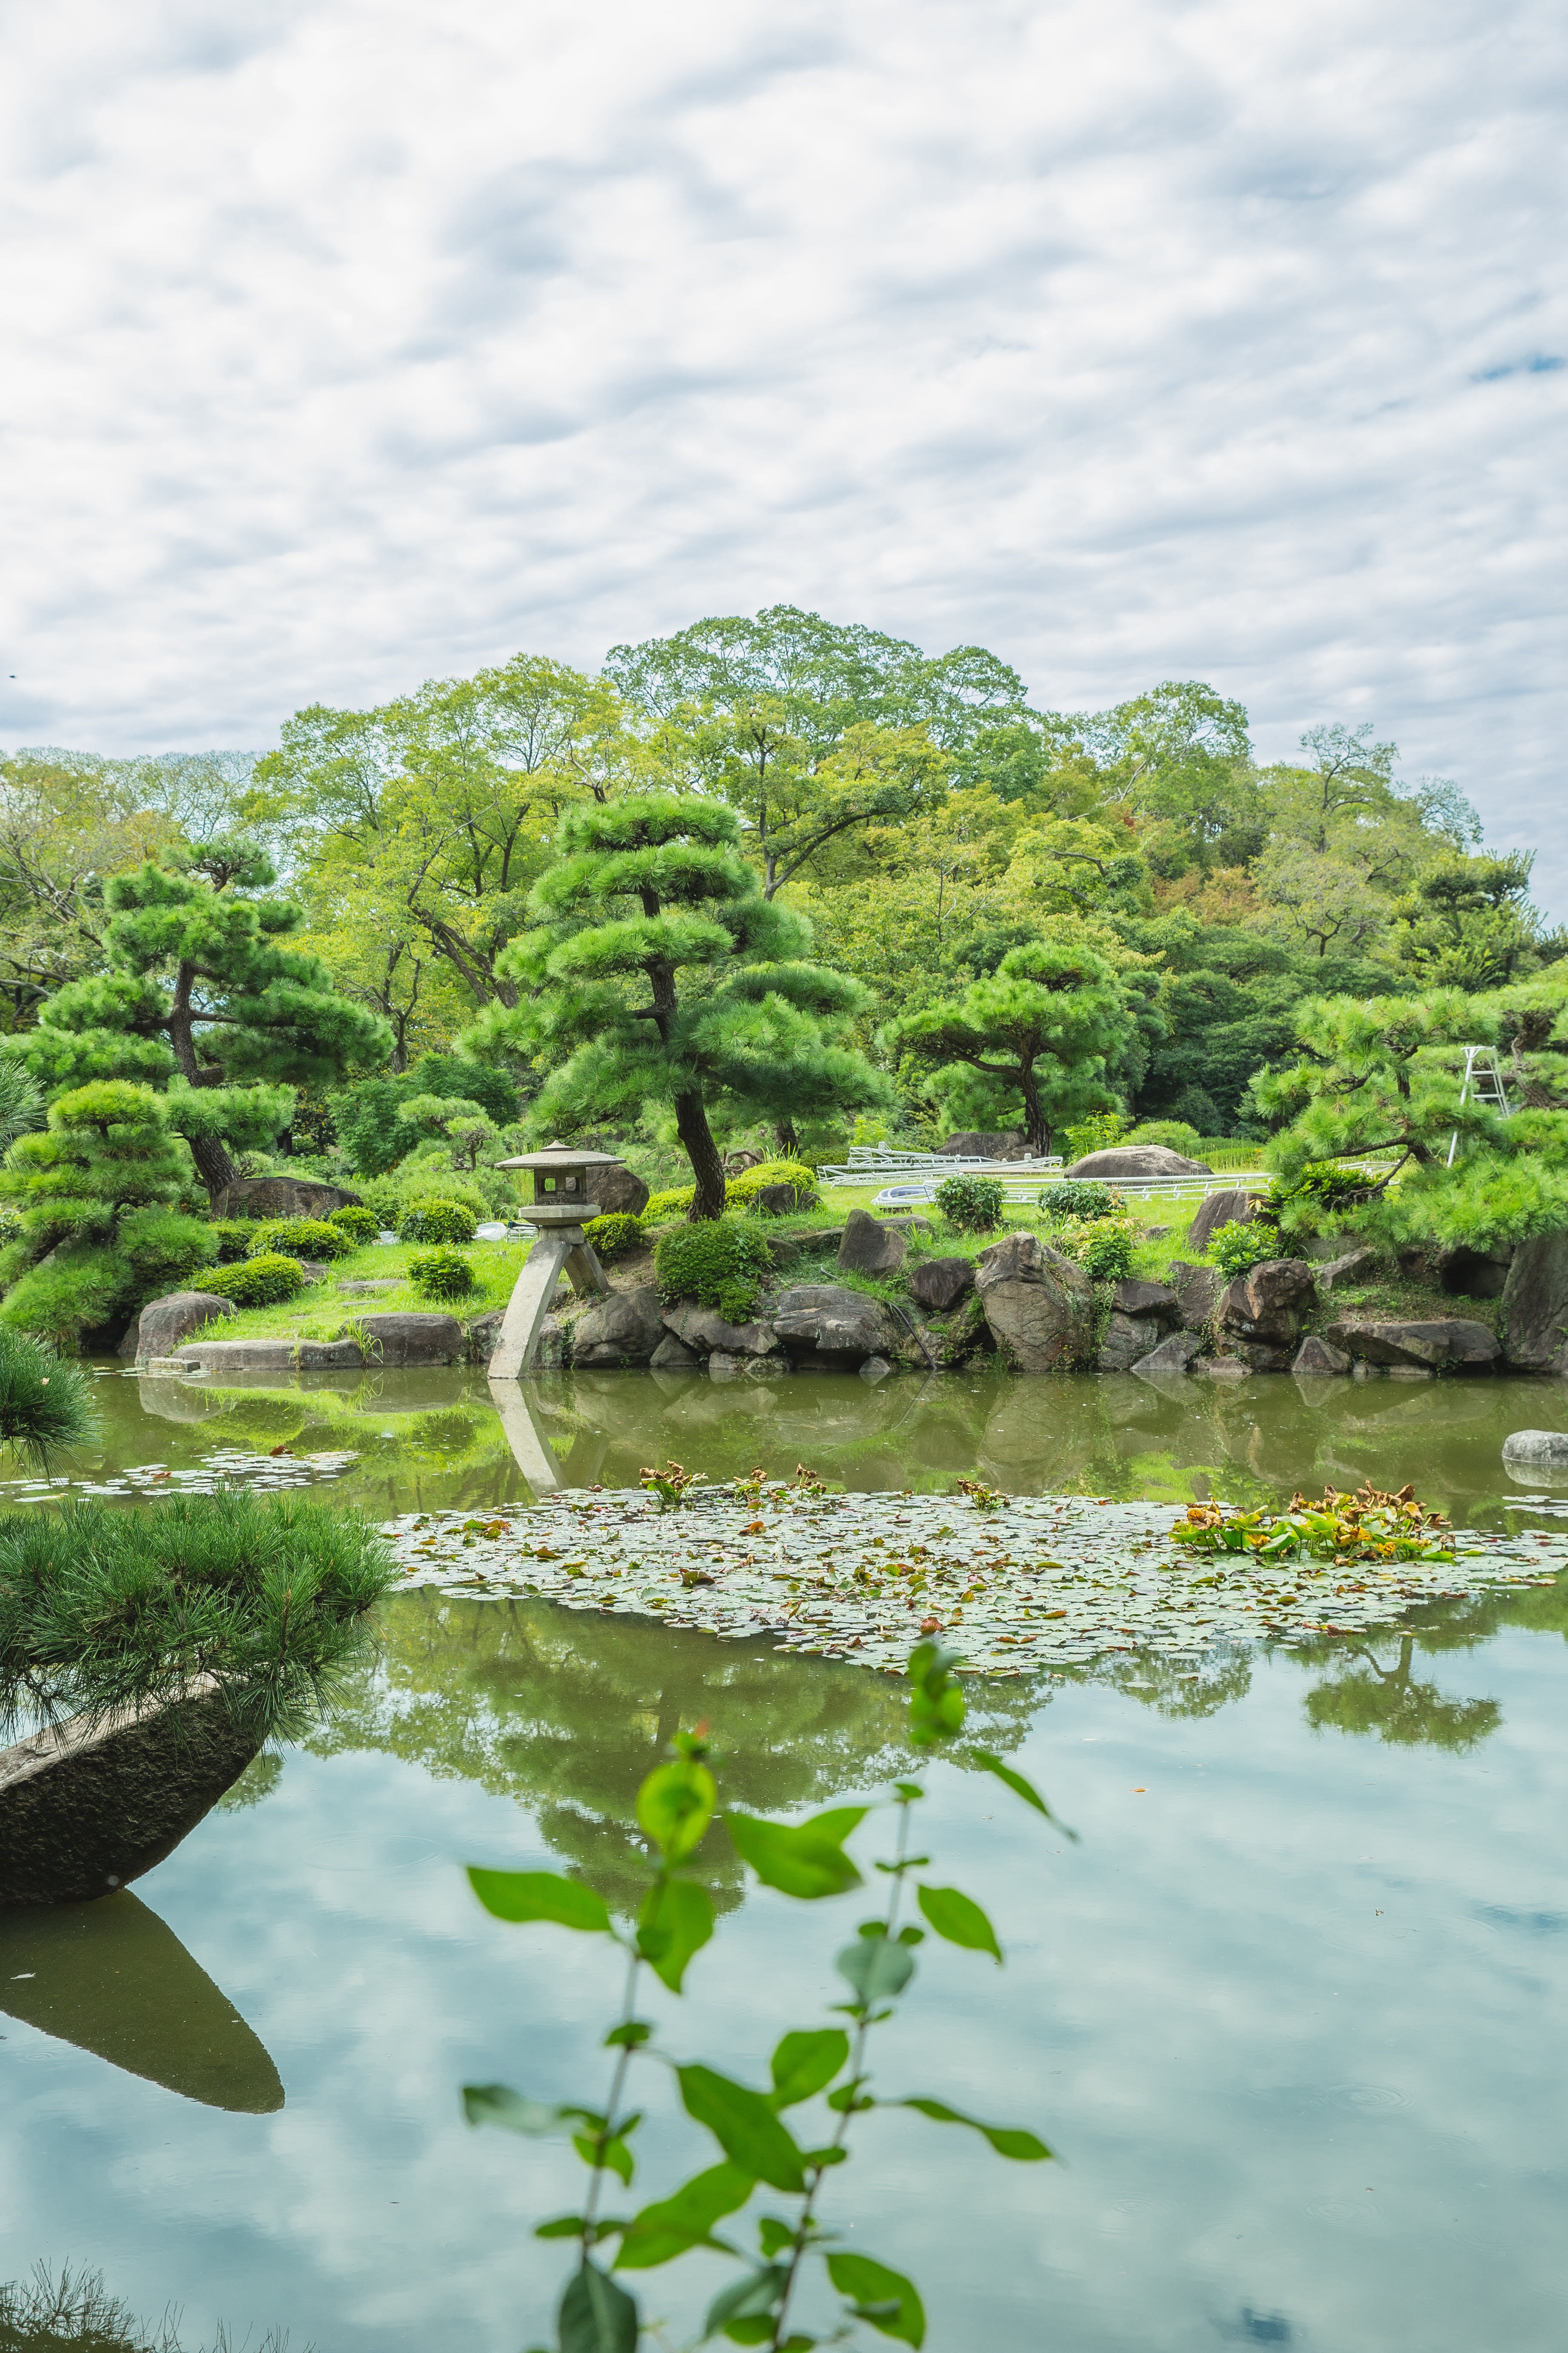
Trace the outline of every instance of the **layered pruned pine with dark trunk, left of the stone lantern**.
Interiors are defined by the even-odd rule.
[[[294,1087],[334,1085],[386,1061],[393,1033],[334,988],[315,955],[287,948],[303,915],[261,896],[273,866],[212,845],[186,871],[146,864],[103,885],[108,969],[59,988],[26,1038],[49,1092],[136,1080],[167,1092],[216,1202],[233,1151],[270,1144]]]

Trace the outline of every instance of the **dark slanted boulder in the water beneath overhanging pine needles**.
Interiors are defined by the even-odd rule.
[[[0,1906],[89,1904],[179,1847],[261,1748],[216,1678],[0,1751]]]

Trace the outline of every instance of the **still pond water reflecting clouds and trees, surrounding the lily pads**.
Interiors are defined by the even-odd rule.
[[[1408,1478],[1462,1525],[1561,1525],[1500,1461],[1512,1428],[1568,1428],[1547,1384],[1168,1398],[1131,1379],[602,1374],[529,1398],[508,1435],[463,1372],[205,1391],[115,1372],[101,1445],[61,1475],[113,1492],[169,1471],[167,1492],[214,1454],[261,1478],[353,1454],[329,1492],[374,1513],[515,1501],[524,1464],[621,1487],[665,1457],[1171,1501]],[[1063,2162],[865,2120],[830,2219],[914,2273],[933,2348],[1556,2353],[1566,1633],[1568,1591],[1537,1588],[1375,1640],[1237,1647],[1197,1682],[1131,1654],[973,1692],[990,1746],[1079,1842],[931,1767],[933,1878],[987,1906],[1009,1965],[922,1946],[879,2071],[1027,2122]],[[548,1602],[397,1595],[339,1713],[134,1892],[0,1920],[0,2278],[89,2266],[148,2320],[181,2306],[190,2344],[219,2320],[287,2327],[296,2353],[541,2341],[562,2254],[531,2224],[581,2169],[468,2132],[458,2085],[592,2099],[618,1969],[564,1929],[489,1920],[461,1864],[574,1868],[628,1899],[635,1786],[696,1718],[750,1809],[910,1767],[891,1678]],[[837,2000],[830,1955],[865,1904],[748,1894],[710,1845],[719,1929],[691,1998],[658,1993],[654,2014],[668,2049],[757,2082],[776,2035]],[[858,1845],[877,1852],[875,1824]],[[654,2068],[644,2089],[637,2202],[710,2148]],[[726,2275],[703,2254],[644,2275],[672,2346]]]

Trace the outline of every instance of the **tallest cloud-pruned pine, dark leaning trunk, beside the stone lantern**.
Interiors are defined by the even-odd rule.
[[[804,962],[809,925],[762,896],[736,840],[733,809],[696,795],[569,809],[529,896],[536,929],[503,958],[527,995],[487,1007],[461,1042],[548,1068],[534,1104],[545,1134],[670,1104],[693,1219],[724,1214],[712,1104],[788,1122],[886,1096],[835,1038],[865,991]]]

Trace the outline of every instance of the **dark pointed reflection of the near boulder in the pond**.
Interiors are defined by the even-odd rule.
[[[268,2052],[129,1889],[0,1913],[0,2009],[207,2108],[282,2108]]]

